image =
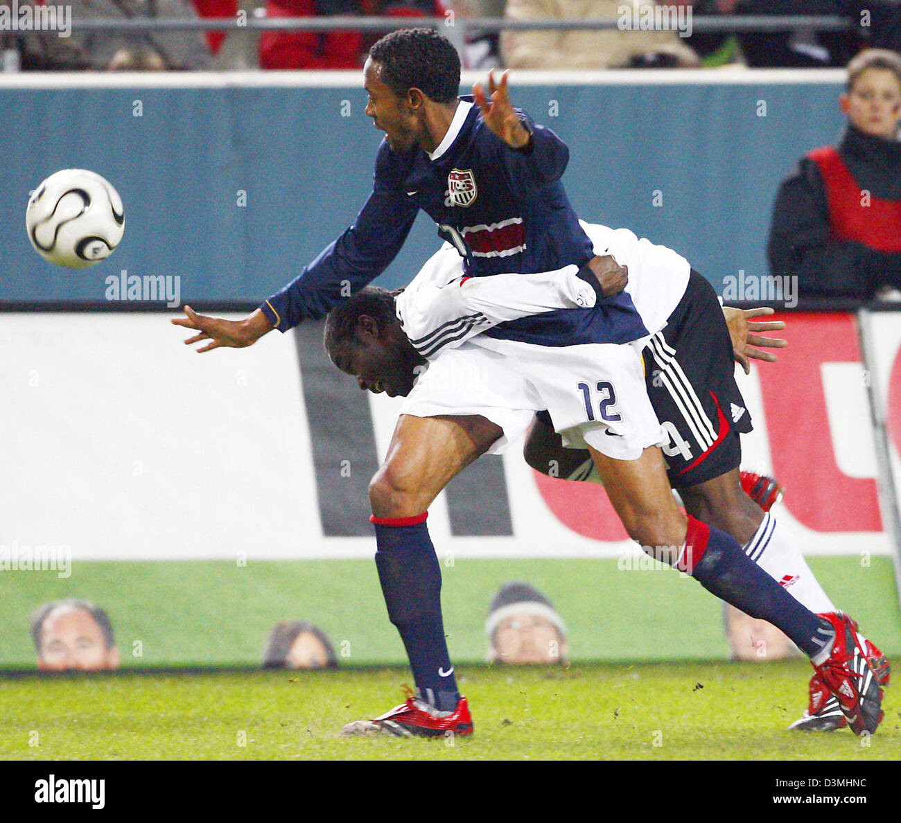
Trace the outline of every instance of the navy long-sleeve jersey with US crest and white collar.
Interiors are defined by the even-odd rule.
[[[519,112],[529,149],[512,149],[485,124],[469,96],[461,98],[447,136],[431,156],[414,147],[392,151],[382,141],[372,194],[357,220],[292,283],[260,309],[278,330],[319,318],[356,292],[396,257],[423,209],[465,258],[467,276],[534,273],[594,256],[591,241],[560,183],[569,149],[550,129]],[[492,337],[545,346],[624,343],[648,332],[628,294],[592,309],[545,312],[501,323]]]

